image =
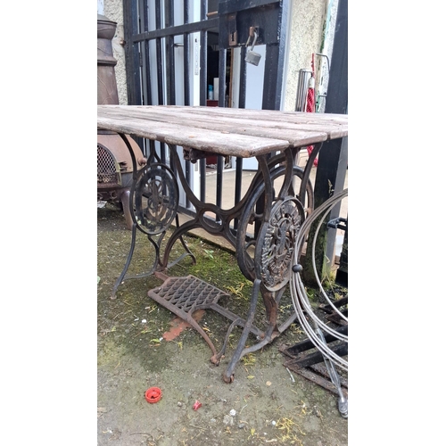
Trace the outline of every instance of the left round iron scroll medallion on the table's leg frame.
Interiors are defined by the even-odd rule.
[[[138,172],[130,190],[132,219],[147,235],[165,232],[178,211],[178,182],[169,167],[153,163]]]

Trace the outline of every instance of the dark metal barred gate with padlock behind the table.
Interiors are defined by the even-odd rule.
[[[288,4],[289,0],[124,0],[128,103],[279,110]],[[253,65],[245,61],[252,51],[260,55],[260,60],[248,57],[258,63],[254,75],[250,75]],[[208,86],[215,78],[219,91],[210,101]],[[255,96],[261,99],[257,105],[247,105],[250,88],[257,89]],[[138,143],[145,154],[154,147],[161,161],[169,164],[163,143]],[[227,164],[235,169],[234,204],[239,202],[243,159],[216,156],[215,161],[216,204],[221,205]],[[188,184],[203,200],[207,161],[184,162]],[[194,213],[186,194],[180,196],[180,211]]]

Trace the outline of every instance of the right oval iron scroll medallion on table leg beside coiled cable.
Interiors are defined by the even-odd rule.
[[[255,247],[255,258],[260,261],[255,270],[268,291],[282,289],[290,279],[294,245],[304,218],[301,202],[287,196],[274,204],[269,220],[260,227]]]

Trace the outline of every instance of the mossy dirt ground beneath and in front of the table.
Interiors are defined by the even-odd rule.
[[[111,290],[127,260],[131,232],[119,208],[107,204],[97,213],[97,444],[102,445],[260,445],[348,444],[348,420],[337,409],[337,396],[285,368],[279,347],[306,339],[293,324],[261,351],[242,359],[235,380],[223,381],[240,331],[230,338],[219,367],[211,349],[194,329],[147,296],[162,281],[149,276],[128,279],[111,300]],[[129,272],[152,267],[153,247],[137,234]],[[251,288],[235,256],[199,238],[186,236],[196,256],[169,269],[169,276],[193,274],[231,293],[227,305],[237,314],[248,308]],[[181,244],[173,254],[184,252]],[[280,318],[292,310],[284,296]],[[283,313],[283,314],[282,314]],[[264,322],[259,305],[256,325]],[[229,322],[212,310],[199,323],[219,348]],[[177,330],[177,331],[175,331]],[[167,341],[166,339],[171,339]],[[248,339],[252,343],[253,338]],[[161,401],[148,403],[145,391],[159,387]],[[201,407],[194,409],[196,401]],[[200,404],[198,404],[200,405]]]

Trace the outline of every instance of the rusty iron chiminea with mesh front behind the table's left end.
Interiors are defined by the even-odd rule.
[[[119,104],[111,39],[115,21],[97,14],[97,104]],[[130,212],[130,187],[133,172],[145,166],[139,145],[130,136],[128,145],[120,135],[108,130],[97,131],[97,200],[120,203],[128,229],[133,226]],[[132,153],[130,153],[130,150]]]

